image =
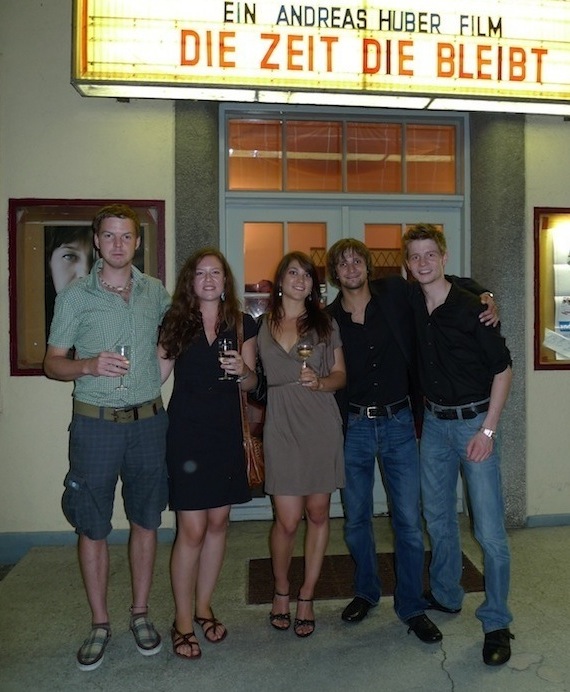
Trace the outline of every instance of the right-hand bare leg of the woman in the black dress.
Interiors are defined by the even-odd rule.
[[[229,514],[229,505],[209,509],[207,512],[208,523],[202,544],[196,581],[195,611],[196,617],[200,619],[213,618],[212,596],[224,562]],[[211,626],[211,623],[209,624]],[[204,629],[208,629],[208,624],[204,625]],[[210,629],[207,638],[211,641],[220,641],[225,635],[225,627],[217,624]]]

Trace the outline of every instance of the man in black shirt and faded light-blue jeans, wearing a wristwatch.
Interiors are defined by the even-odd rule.
[[[432,547],[427,597],[432,607],[461,610],[464,592],[456,511],[461,469],[485,565],[485,601],[476,611],[485,633],[483,660],[501,665],[511,655],[512,616],[507,605],[510,554],[495,437],[511,386],[511,357],[498,327],[481,325],[477,299],[446,279],[443,233],[429,224],[414,226],[404,234],[403,246],[417,282],[413,310],[426,397],[420,468]]]

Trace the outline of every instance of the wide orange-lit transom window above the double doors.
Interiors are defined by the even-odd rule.
[[[226,120],[228,191],[461,194],[457,122]]]

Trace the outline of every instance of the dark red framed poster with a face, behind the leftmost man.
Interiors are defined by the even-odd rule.
[[[10,373],[43,375],[55,297],[86,276],[97,259],[91,221],[109,204],[127,204],[140,220],[134,264],[164,282],[164,201],[10,199],[8,206]]]

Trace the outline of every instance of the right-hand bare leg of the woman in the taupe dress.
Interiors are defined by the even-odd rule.
[[[299,599],[305,600],[297,602],[296,615],[300,620],[314,620],[315,617],[312,598],[321,574],[323,558],[329,541],[329,505],[329,494],[309,495],[306,498],[305,578],[299,589]],[[300,634],[305,634],[313,629],[311,625],[298,628]]]

